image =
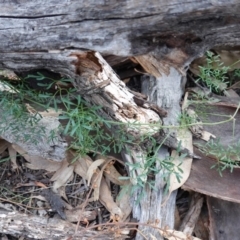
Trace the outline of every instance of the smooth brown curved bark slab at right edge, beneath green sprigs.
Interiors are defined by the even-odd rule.
[[[212,103],[211,105],[201,105],[202,111],[204,112],[204,117],[202,117],[201,120],[204,123],[215,122],[214,125],[204,125],[204,128],[217,136],[218,139],[214,141],[219,141],[220,147],[228,148],[239,141],[240,113],[238,111],[234,122],[233,120],[227,121],[235,114],[237,104],[235,103],[233,105],[233,102],[229,103],[229,101],[227,101],[228,98],[220,97],[220,99],[221,98],[222,102]],[[220,103],[222,106],[219,106]],[[217,106],[215,106],[215,104]],[[198,106],[195,106],[195,108],[197,109]],[[216,124],[222,121],[226,122]],[[205,144],[200,140],[195,140],[195,143],[201,145]],[[195,153],[201,156],[201,160],[193,162],[191,174],[187,182],[184,184],[184,187],[208,196],[240,203],[240,189],[238,188],[238,185],[235,184],[239,178],[239,168],[234,168],[232,172],[230,172],[230,169],[228,168],[222,172],[223,177],[221,177],[217,169],[212,169],[212,166],[218,161],[218,156],[206,156],[206,154],[200,153],[198,150],[195,150]],[[236,160],[237,159],[238,158],[236,157]],[[209,184],[209,182],[211,182],[211,184]]]

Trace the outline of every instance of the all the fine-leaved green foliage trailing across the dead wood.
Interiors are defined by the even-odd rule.
[[[228,68],[220,63],[219,56],[214,56],[213,53],[207,52],[207,66],[200,67],[198,81],[202,81],[213,92],[222,92],[226,89],[227,71]],[[29,87],[29,78],[36,80],[39,86],[38,90],[32,90]],[[77,150],[80,155],[85,155],[89,152],[104,155],[111,150],[121,152],[122,149],[126,148],[126,144],[138,146],[145,140],[151,143],[146,155],[143,156],[143,164],[126,163],[131,171],[141,169],[142,173],[137,175],[135,179],[136,185],[132,187],[131,192],[144,188],[145,185],[155,189],[155,176],[159,172],[161,172],[167,183],[166,190],[169,187],[170,174],[175,174],[177,180],[180,181],[182,173],[181,164],[175,166],[171,157],[166,157],[165,159],[158,157],[158,150],[165,140],[161,144],[157,144],[156,140],[151,137],[151,132],[141,139],[136,139],[132,134],[127,134],[126,129],[132,129],[134,132],[141,127],[139,123],[124,124],[103,119],[98,114],[98,111],[101,110],[100,106],[89,107],[75,88],[67,88],[69,83],[71,83],[70,79],[62,78],[56,81],[45,77],[41,73],[37,73],[37,75],[29,75],[27,78],[14,84],[7,79],[6,81],[2,80],[2,83],[7,85],[12,91],[0,90],[0,104],[3,109],[0,113],[2,120],[0,124],[1,135],[11,131],[11,134],[15,135],[17,141],[31,141],[37,144],[39,138],[46,135],[44,127],[38,124],[42,118],[39,111],[47,111],[50,108],[54,108],[55,111],[60,112],[59,120],[62,123],[58,131],[63,135],[71,137],[71,145],[69,147]],[[54,91],[51,91],[52,89]],[[205,100],[205,96],[202,96],[202,98]],[[34,105],[34,108],[37,109],[36,113],[30,114],[27,111],[26,102]],[[179,117],[179,122],[180,127],[184,128],[194,123],[193,119],[186,113]],[[153,127],[159,126],[154,125]],[[166,127],[170,128],[171,126]],[[114,135],[110,133],[111,129],[114,129]],[[52,131],[49,141],[54,141],[55,137],[56,132]],[[233,155],[239,156],[240,142],[236,146],[224,149],[219,142],[210,141],[202,150],[206,154],[214,155],[217,158],[218,162],[213,167],[216,167],[220,174],[224,169],[230,168],[232,171],[233,167],[236,164],[238,165],[238,162],[232,161],[231,157]],[[181,157],[184,158],[185,156],[182,155]],[[130,179],[130,176],[123,178]],[[142,191],[141,194],[143,193]]]

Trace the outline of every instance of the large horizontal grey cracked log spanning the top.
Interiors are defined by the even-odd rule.
[[[238,45],[240,3],[221,1],[1,1],[0,52],[91,49],[135,55],[159,46],[187,55]]]

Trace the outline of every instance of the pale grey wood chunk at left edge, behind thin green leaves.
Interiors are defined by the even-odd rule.
[[[6,112],[3,113],[0,107],[0,116],[2,115],[6,115]],[[10,117],[5,122],[0,117],[1,131],[7,128],[0,133],[0,137],[21,146],[29,155],[61,162],[65,158],[68,143],[57,129],[59,124],[56,117],[43,117],[34,126]],[[51,138],[51,131],[55,132],[54,138]]]

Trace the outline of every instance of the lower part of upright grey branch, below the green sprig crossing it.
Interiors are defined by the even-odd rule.
[[[158,153],[159,159],[164,159],[169,156],[168,149],[166,147],[162,147],[162,149]],[[156,167],[159,167],[159,163],[156,164]],[[133,206],[133,216],[139,220],[140,223],[149,223],[158,227],[166,227],[173,228],[174,225],[174,210],[175,210],[175,198],[177,191],[171,194],[171,197],[165,204],[165,206],[161,207],[164,194],[163,187],[165,182],[162,177],[162,171],[160,171],[155,176],[155,184],[154,187],[157,190],[151,189],[147,184],[143,189],[139,189],[138,192],[135,193],[132,199]],[[141,196],[142,191],[144,194],[142,199],[140,199],[140,203],[136,204],[135,201],[139,200],[139,196]],[[163,239],[160,235],[160,232],[151,228],[151,226],[139,226],[138,227],[140,233],[138,232],[136,239],[144,239],[141,233],[145,234],[145,236],[150,237],[155,236],[157,239]]]

